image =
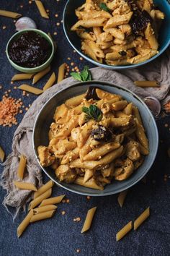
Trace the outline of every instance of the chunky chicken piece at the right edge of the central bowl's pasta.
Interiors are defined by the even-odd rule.
[[[135,141],[133,141],[133,140],[131,140],[130,142],[128,142],[126,155],[127,155],[128,158],[130,158],[130,160],[132,160],[132,161],[137,161],[137,160],[140,158],[140,152],[139,152],[139,144],[138,144],[138,142],[135,142]]]

